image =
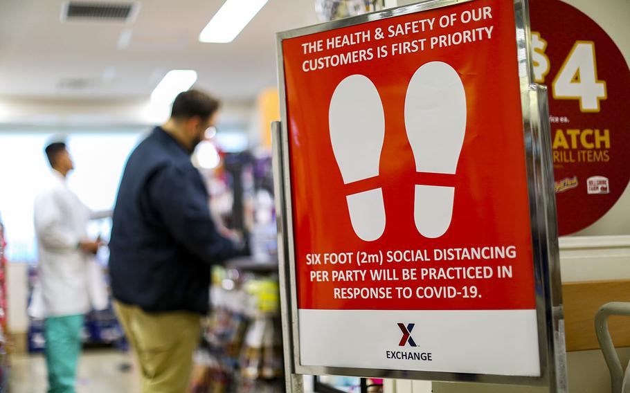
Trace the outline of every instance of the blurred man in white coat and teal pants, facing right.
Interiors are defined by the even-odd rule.
[[[90,310],[88,266],[100,240],[87,236],[89,209],[66,185],[73,162],[63,142],[46,147],[51,178],[35,199],[39,280],[46,316],[48,393],[74,393],[84,314]]]

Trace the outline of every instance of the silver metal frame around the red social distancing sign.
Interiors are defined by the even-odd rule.
[[[553,180],[550,124],[546,89],[533,83],[532,48],[530,44],[527,0],[514,0],[516,55],[519,67],[523,143],[527,170],[528,197],[534,262],[534,286],[539,333],[540,376],[503,376],[422,372],[403,369],[366,369],[349,367],[305,366],[300,363],[296,257],[291,176],[289,167],[289,129],[282,41],[321,33],[370,21],[435,10],[478,0],[424,0],[410,6],[372,12],[358,17],[331,21],[277,34],[278,86],[281,122],[272,125],[273,173],[278,220],[278,261],[280,306],[284,337],[285,378],[287,392],[302,392],[300,374],[370,376],[377,378],[422,379],[467,383],[498,383],[549,386],[551,392],[566,391],[566,351],[564,351],[564,315],[562,311],[559,271],[559,248]],[[507,3],[507,1],[506,1]]]

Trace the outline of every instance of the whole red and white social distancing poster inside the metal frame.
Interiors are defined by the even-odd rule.
[[[538,375],[514,2],[283,39],[282,52],[303,363]],[[376,345],[345,363],[347,318],[433,355],[403,365]],[[475,342],[477,365],[456,365],[470,357],[453,337]]]

